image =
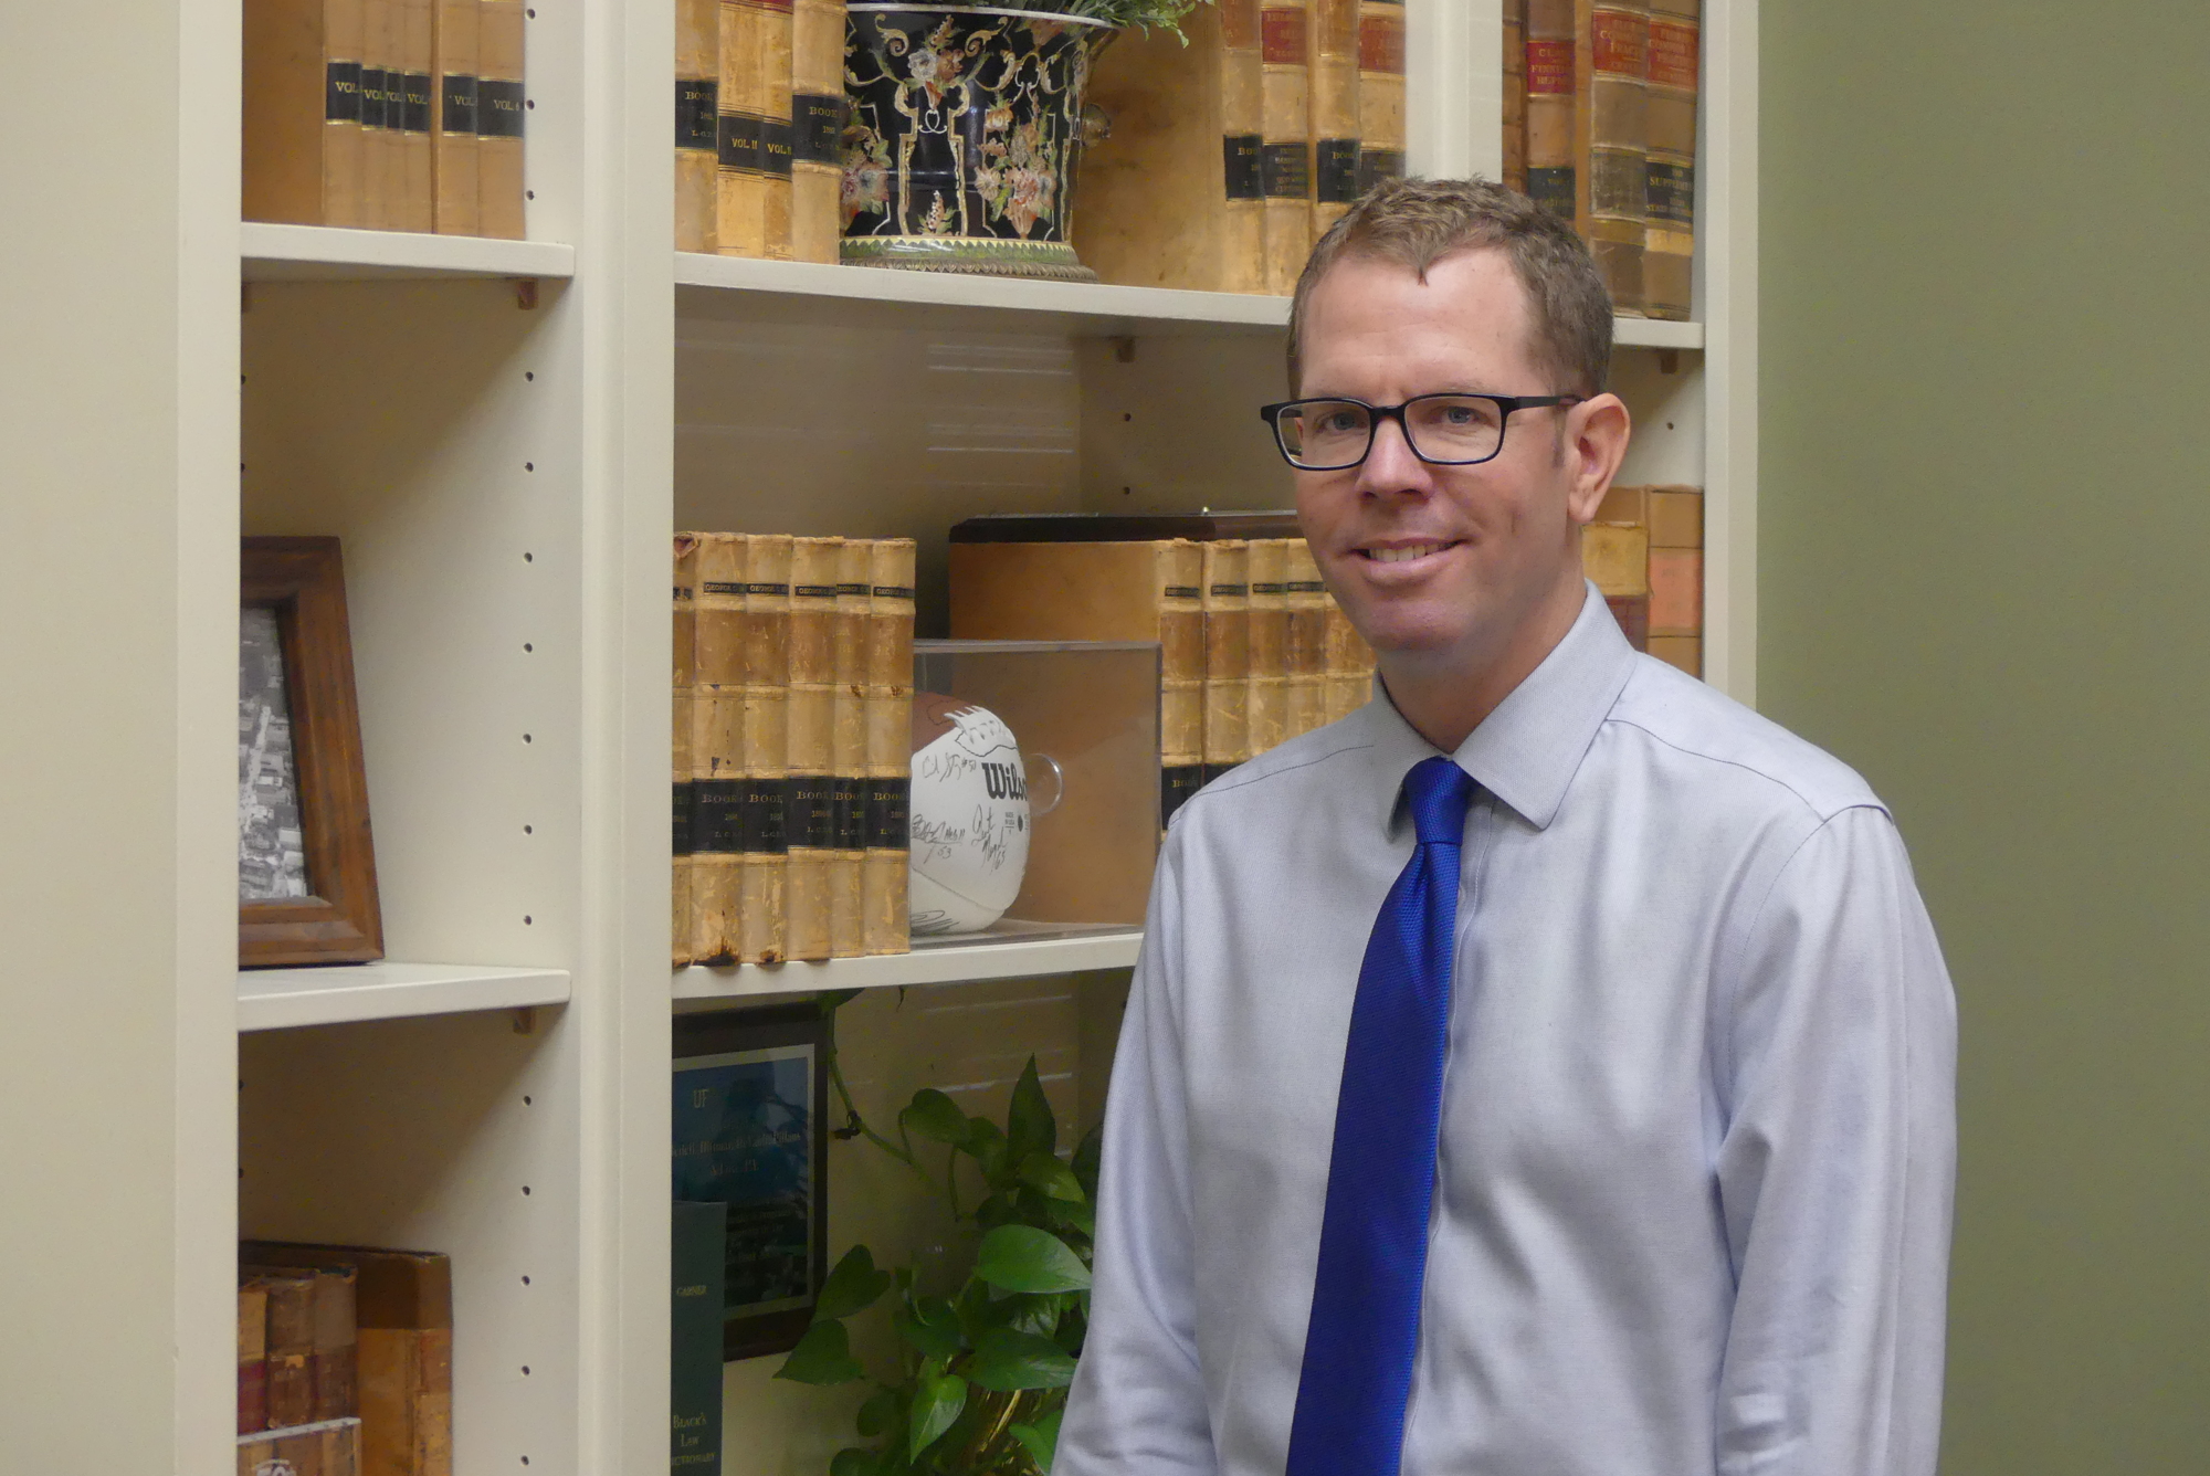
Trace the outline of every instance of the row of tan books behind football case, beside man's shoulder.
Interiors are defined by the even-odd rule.
[[[1372,652],[1293,533],[1288,513],[970,517],[953,528],[953,636],[1158,641],[1165,820],[1372,689]]]

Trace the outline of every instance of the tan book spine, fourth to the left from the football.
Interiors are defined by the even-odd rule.
[[[743,961],[782,963],[789,879],[791,537],[745,537]]]

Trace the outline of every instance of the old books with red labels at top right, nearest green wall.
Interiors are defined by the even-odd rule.
[[[1505,0],[1505,183],[1574,221],[1611,305],[1688,318],[1702,0]]]

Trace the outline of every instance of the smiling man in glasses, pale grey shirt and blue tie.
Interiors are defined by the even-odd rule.
[[[1863,780],[1638,656],[1571,230],[1406,181],[1291,316],[1355,716],[1176,818],[1056,1476],[1929,1476],[1956,1019]]]

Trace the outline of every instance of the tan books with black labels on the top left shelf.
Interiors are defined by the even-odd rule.
[[[519,239],[524,31],[524,0],[245,0],[245,219]]]

